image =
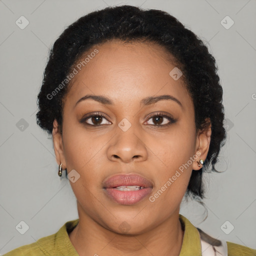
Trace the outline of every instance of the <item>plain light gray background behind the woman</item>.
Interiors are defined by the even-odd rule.
[[[180,213],[215,238],[256,247],[255,0],[0,0],[0,254],[78,217],[69,180],[57,175],[52,141],[36,125],[36,96],[48,49],[63,29],[92,10],[122,4],[169,12],[216,58],[228,129],[216,167],[224,172],[205,175],[204,222],[196,202],[182,202]],[[24,29],[15,24],[21,15],[29,21]],[[220,23],[226,15],[234,21],[229,29]],[[29,226],[23,235],[15,229],[21,220]],[[229,234],[221,229],[226,220],[234,226]]]

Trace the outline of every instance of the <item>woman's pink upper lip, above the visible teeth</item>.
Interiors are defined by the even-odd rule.
[[[116,187],[116,186],[143,186],[143,187],[153,187],[150,180],[142,177],[139,174],[116,174],[110,176],[105,181],[103,181],[103,187]]]

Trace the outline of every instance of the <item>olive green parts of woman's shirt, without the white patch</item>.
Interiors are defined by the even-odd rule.
[[[184,236],[179,256],[201,256],[200,234],[197,228],[181,214],[179,214],[179,219],[184,226]],[[3,256],[78,256],[68,236],[68,233],[72,231],[78,221],[79,219],[67,221],[56,233],[13,249]],[[226,243],[228,256],[256,255],[256,249],[228,241]]]

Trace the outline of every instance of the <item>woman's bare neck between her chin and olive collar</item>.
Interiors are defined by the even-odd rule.
[[[179,255],[184,233],[178,218],[179,208],[153,229],[132,235],[106,229],[79,210],[78,204],[77,207],[79,223],[68,235],[79,256]]]

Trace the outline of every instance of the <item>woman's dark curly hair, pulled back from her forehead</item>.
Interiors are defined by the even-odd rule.
[[[215,59],[202,40],[165,11],[145,10],[130,5],[110,6],[90,12],[69,25],[49,52],[38,94],[37,124],[51,134],[53,120],[56,119],[61,132],[62,106],[70,83],[67,82],[66,86],[59,89],[53,99],[49,98],[49,94],[66,79],[81,56],[96,44],[111,39],[153,42],[163,46],[166,57],[172,56],[172,63],[183,73],[182,79],[193,100],[196,131],[206,128],[210,121],[211,137],[207,157],[200,170],[192,171],[185,193],[185,197],[191,195],[202,203],[202,172],[207,171],[209,165],[212,171],[217,171],[214,165],[226,138],[222,87]]]

